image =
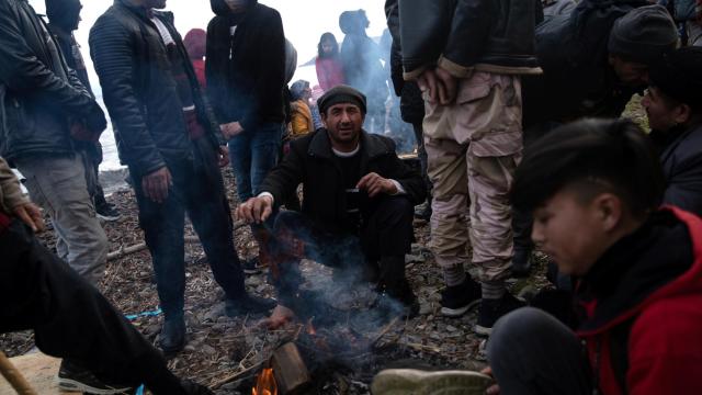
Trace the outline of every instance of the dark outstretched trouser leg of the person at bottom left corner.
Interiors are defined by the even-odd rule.
[[[156,394],[183,394],[160,352],[15,221],[0,234],[0,332],[33,329],[42,352]]]

